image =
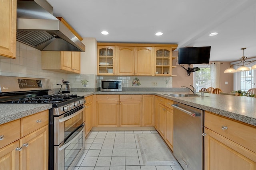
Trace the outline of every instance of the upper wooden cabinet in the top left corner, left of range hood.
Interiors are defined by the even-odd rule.
[[[0,58],[16,59],[16,0],[0,1]]]

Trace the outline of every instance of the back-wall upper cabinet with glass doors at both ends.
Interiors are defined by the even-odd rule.
[[[98,74],[172,76],[172,68],[174,67],[172,66],[172,51],[177,46],[170,44],[98,43]],[[105,55],[108,48],[113,49],[113,54],[110,53],[111,56]],[[157,51],[165,52],[166,56],[160,56]],[[156,57],[156,53],[159,55],[158,57]],[[160,61],[162,64],[157,65],[158,62],[160,64]]]

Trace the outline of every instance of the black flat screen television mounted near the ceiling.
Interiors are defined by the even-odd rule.
[[[211,47],[179,48],[178,64],[208,64]]]

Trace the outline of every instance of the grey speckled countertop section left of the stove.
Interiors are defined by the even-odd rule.
[[[0,125],[52,108],[52,104],[0,104]]]

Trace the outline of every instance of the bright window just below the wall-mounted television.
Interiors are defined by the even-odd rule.
[[[194,67],[200,68],[199,71],[194,72],[194,87],[196,92],[201,88],[208,88],[211,86],[211,68],[208,64],[194,64]]]

